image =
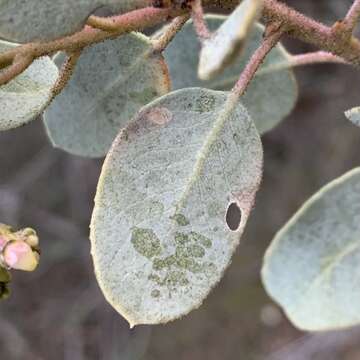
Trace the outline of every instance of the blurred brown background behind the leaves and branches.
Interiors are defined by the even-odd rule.
[[[331,24],[351,0],[287,3]],[[14,274],[12,296],[0,303],[0,359],[359,360],[360,327],[300,332],[259,278],[275,232],[320,187],[360,165],[360,129],[343,115],[360,103],[360,72],[316,65],[296,74],[298,104],[263,137],[264,180],[231,266],[200,309],[167,325],[129,330],[96,283],[88,226],[102,161],[53,149],[41,121],[0,133],[0,221],[37,229],[42,246],[39,270]]]

